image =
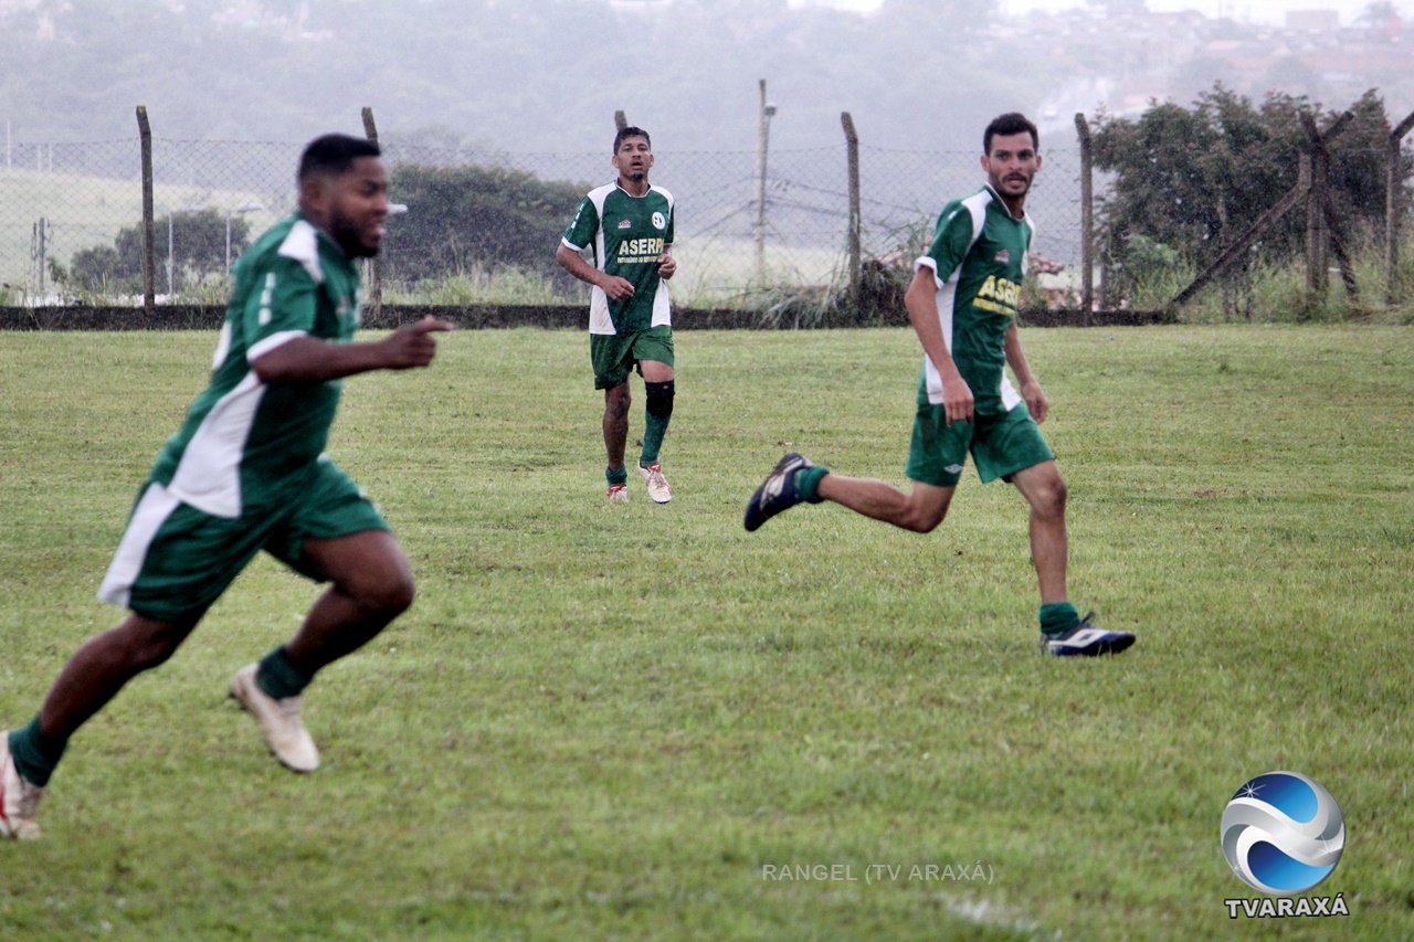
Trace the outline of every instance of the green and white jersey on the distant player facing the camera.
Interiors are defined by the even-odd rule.
[[[672,324],[667,283],[658,274],[658,257],[673,245],[673,194],[649,187],[631,197],[618,181],[591,190],[564,231],[564,245],[575,252],[594,248],[594,267],[628,280],[633,297],[611,301],[595,286],[590,298],[590,332],[618,334]]]

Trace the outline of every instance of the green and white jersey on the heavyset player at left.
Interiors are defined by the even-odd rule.
[[[163,448],[151,479],[182,504],[239,518],[300,487],[320,458],[344,380],[266,385],[250,361],[297,337],[346,342],[359,321],[359,273],[324,232],[294,215],[240,257],[211,385]]]

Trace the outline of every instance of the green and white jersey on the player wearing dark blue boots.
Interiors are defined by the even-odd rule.
[[[1017,318],[1034,233],[1031,216],[1012,219],[1001,197],[987,185],[943,207],[933,243],[915,263],[915,270],[933,270],[947,352],[983,416],[1004,414],[1021,403],[1007,379],[1005,337]],[[943,403],[943,379],[928,355],[918,403]]]

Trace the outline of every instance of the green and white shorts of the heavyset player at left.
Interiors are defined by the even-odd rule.
[[[198,511],[148,481],[99,600],[144,618],[180,621],[216,601],[260,550],[320,581],[322,576],[304,559],[304,540],[386,529],[378,508],[328,458],[315,461],[287,499],[246,508],[235,519]]]

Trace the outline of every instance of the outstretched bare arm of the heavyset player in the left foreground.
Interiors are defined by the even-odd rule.
[[[256,358],[250,366],[263,383],[318,383],[373,369],[416,369],[427,366],[437,355],[437,341],[431,335],[450,330],[451,324],[428,314],[369,344],[297,337]]]

